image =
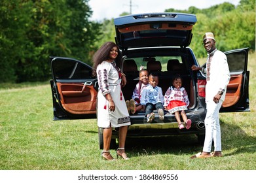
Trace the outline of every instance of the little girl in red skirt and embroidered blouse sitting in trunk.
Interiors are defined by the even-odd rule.
[[[186,123],[186,128],[191,127],[191,120],[187,119],[185,110],[189,106],[189,97],[185,88],[182,86],[181,76],[175,76],[173,86],[170,86],[164,95],[164,108],[166,108],[171,114],[175,113],[175,118],[179,124],[179,129],[183,129],[184,125],[181,123],[181,118],[179,117],[179,112]]]

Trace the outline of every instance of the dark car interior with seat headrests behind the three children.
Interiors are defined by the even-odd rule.
[[[157,58],[159,59],[159,58]],[[132,92],[139,82],[139,67],[144,66],[144,69],[147,69],[149,73],[155,73],[158,75],[159,84],[162,88],[163,95],[168,90],[169,86],[172,86],[172,78],[179,74],[183,78],[183,87],[187,91],[190,99],[189,107],[194,106],[194,89],[192,84],[192,79],[189,73],[186,73],[186,68],[179,59],[168,59],[168,61],[160,62],[156,58],[134,58],[134,59],[124,59],[122,64],[122,72],[126,75],[126,86],[122,90],[124,98],[131,99]],[[166,59],[166,58],[164,58]],[[142,61],[138,61],[142,60]],[[137,63],[136,63],[137,62]],[[145,67],[145,65],[147,67]]]

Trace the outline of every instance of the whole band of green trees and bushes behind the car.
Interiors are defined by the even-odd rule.
[[[235,7],[222,3],[210,8],[166,9],[196,14],[191,48],[206,56],[205,32],[215,33],[217,48],[255,50],[255,1],[241,0]],[[1,0],[0,82],[40,81],[50,78],[49,56],[80,59],[90,64],[105,41],[115,41],[113,19],[90,22],[88,0]],[[126,15],[126,12],[120,16]]]

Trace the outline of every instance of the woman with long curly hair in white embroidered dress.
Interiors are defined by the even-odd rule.
[[[97,98],[98,127],[103,128],[103,159],[114,160],[109,152],[112,128],[119,127],[119,148],[117,158],[128,159],[124,145],[130,116],[126,108],[121,88],[126,84],[125,75],[120,73],[117,64],[122,55],[114,42],[105,42],[93,57],[92,75],[97,76],[99,91]]]

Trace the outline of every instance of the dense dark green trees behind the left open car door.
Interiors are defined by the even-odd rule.
[[[90,63],[100,24],[89,22],[87,0],[2,0],[0,5],[1,82],[50,78],[49,56]]]

